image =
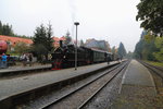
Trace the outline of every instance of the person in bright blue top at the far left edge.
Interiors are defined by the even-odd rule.
[[[0,68],[4,69],[8,68],[8,56],[5,53],[2,53],[2,56],[0,57]]]

